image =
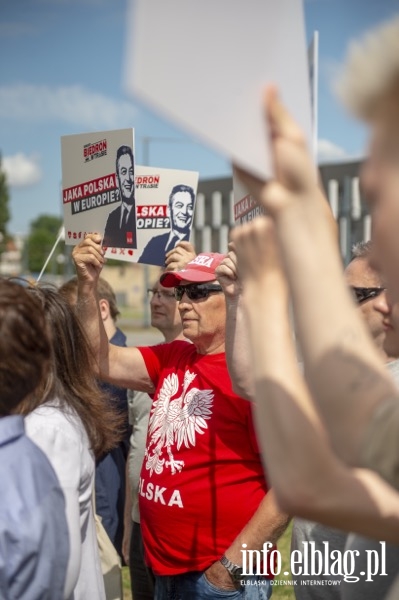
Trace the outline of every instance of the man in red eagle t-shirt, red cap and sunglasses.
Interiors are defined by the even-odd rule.
[[[155,598],[229,592],[229,598],[266,599],[272,577],[266,543],[277,540],[288,518],[267,490],[251,404],[233,392],[227,371],[226,304],[215,276],[224,256],[200,254],[161,278],[175,288],[191,344],[122,348],[108,344],[98,316],[100,242],[88,235],[73,251],[80,314],[101,377],[154,398],[139,495]],[[257,574],[244,577],[253,556],[262,558]]]

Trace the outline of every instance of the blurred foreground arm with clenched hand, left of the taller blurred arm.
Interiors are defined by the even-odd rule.
[[[270,219],[233,234],[243,276],[258,440],[282,508],[331,527],[399,541],[399,494],[334,454],[300,373],[288,288]]]

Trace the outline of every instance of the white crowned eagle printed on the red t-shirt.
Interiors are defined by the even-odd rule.
[[[176,373],[171,373],[162,382],[157,399],[153,402],[148,424],[148,442],[145,451],[145,468],[150,475],[162,473],[164,466],[170,467],[172,474],[182,470],[183,460],[175,460],[171,447],[176,444],[177,450],[182,444],[188,448],[195,446],[195,434],[203,434],[208,428],[207,419],[212,415],[212,390],[199,390],[188,386],[196,374],[184,373],[183,391],[178,398],[173,398],[179,389]],[[169,460],[162,457],[166,447]]]

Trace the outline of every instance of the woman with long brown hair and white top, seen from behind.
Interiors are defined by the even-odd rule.
[[[49,458],[65,495],[70,557],[65,598],[105,598],[93,514],[95,458],[121,437],[121,418],[99,389],[78,318],[52,287],[30,287],[49,326],[49,371],[20,406],[27,435]]]

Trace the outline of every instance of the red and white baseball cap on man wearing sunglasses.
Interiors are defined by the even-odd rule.
[[[180,271],[169,271],[161,275],[160,282],[164,287],[175,287],[181,281],[205,283],[216,279],[215,270],[225,258],[217,252],[202,252],[186,264]]]

